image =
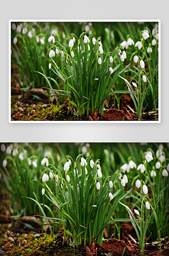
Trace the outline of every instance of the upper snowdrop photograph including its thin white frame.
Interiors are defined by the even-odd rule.
[[[160,39],[158,19],[9,20],[9,122],[159,123]]]

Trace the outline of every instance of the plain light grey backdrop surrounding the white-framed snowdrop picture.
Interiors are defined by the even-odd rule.
[[[168,132],[168,1],[1,1],[0,118],[2,142],[166,142]],[[161,123],[9,123],[9,19],[160,19]]]

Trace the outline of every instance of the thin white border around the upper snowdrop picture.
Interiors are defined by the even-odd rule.
[[[160,19],[10,19],[9,20],[9,123],[42,123],[11,121],[11,23],[12,22],[158,22],[158,121],[43,121],[43,123],[160,123],[161,122],[161,20]]]

